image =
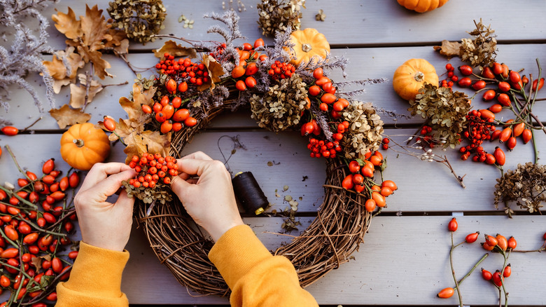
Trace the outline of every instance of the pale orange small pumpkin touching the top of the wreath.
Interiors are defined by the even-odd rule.
[[[290,60],[290,63],[295,66],[311,60],[312,57],[325,58],[330,52],[330,44],[316,29],[294,31],[290,34],[290,42],[294,44],[295,53],[295,59]]]

